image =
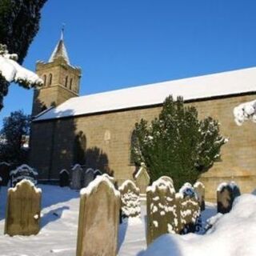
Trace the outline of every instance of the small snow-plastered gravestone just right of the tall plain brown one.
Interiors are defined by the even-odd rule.
[[[140,218],[141,206],[138,187],[134,182],[126,180],[118,190],[121,194],[122,218]]]

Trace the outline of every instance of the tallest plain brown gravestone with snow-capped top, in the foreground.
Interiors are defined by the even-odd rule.
[[[107,174],[80,192],[77,256],[116,256],[120,193]]]

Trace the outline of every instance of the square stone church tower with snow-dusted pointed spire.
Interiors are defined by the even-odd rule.
[[[36,73],[42,78],[43,86],[34,90],[32,116],[78,96],[81,69],[70,64],[64,45],[63,30],[49,61],[37,62]]]

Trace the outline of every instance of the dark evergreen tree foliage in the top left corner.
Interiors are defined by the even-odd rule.
[[[1,0],[0,44],[6,45],[10,54],[18,54],[22,64],[34,36],[38,32],[40,10],[46,0]],[[8,93],[9,82],[0,75],[0,110],[3,97]],[[28,88],[27,84],[21,86]]]

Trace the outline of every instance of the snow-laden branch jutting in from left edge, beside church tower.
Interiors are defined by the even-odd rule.
[[[27,87],[41,86],[42,79],[37,74],[20,66],[17,54],[9,54],[5,45],[0,44],[0,75],[7,82],[19,82]]]

